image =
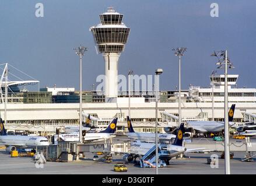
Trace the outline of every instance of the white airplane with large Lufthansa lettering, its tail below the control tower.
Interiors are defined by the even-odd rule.
[[[106,130],[100,131],[99,133],[85,133],[85,135],[83,135],[83,141],[102,141],[114,138],[114,133],[117,129],[117,119],[118,118],[115,117]],[[79,133],[56,134],[54,135],[54,144],[57,144],[58,138],[61,141],[79,141]]]

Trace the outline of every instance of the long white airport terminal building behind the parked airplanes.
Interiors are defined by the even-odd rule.
[[[238,75],[229,76],[229,106],[236,104],[234,121],[241,122],[244,121],[244,113],[256,113],[256,88],[234,87],[237,78]],[[216,77],[213,88],[213,114],[216,121],[224,120],[223,83],[222,75]],[[19,98],[15,98],[14,91]],[[15,86],[8,92],[6,129],[49,134],[54,133],[56,128],[79,124],[79,92],[75,88],[53,87],[42,88],[38,92],[22,91]],[[159,131],[163,132],[164,127],[177,126],[178,92],[160,91],[159,94]],[[114,103],[105,102],[104,94],[96,94],[96,91],[83,91],[82,98],[83,113],[98,119],[93,122],[95,127],[105,128],[113,117],[118,117],[118,130],[124,130],[129,113],[128,92],[119,92],[117,102]],[[189,90],[182,91],[181,103],[183,121],[212,120],[212,87],[191,85]],[[0,105],[0,115],[4,120],[4,103]],[[153,92],[131,92],[131,120],[136,131],[155,131]]]

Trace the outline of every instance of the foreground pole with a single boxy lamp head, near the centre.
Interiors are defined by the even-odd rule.
[[[156,69],[156,174],[158,174],[158,117],[157,117],[157,102],[158,102],[158,92],[159,92],[159,75],[163,73],[163,69]]]

